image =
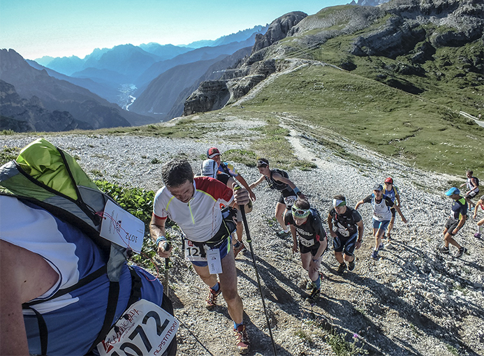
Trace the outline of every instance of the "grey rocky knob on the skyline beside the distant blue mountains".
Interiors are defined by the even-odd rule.
[[[307,17],[307,13],[294,11],[293,13],[286,13],[286,15],[282,15],[272,21],[265,35],[256,35],[256,43],[254,44],[254,47],[252,47],[252,53],[262,50],[265,47],[269,47],[278,40],[285,38],[289,30],[305,17]]]

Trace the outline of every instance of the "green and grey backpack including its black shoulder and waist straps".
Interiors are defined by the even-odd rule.
[[[80,279],[69,288],[58,290],[49,299],[54,299],[80,288],[82,285],[97,279],[104,274],[110,281],[108,308],[105,314],[103,329],[91,349],[108,333],[115,316],[119,295],[119,276],[122,267],[129,257],[129,250],[114,244],[99,235],[101,231],[102,213],[105,203],[112,200],[98,189],[94,181],[87,177],[75,159],[53,144],[38,139],[20,151],[16,160],[0,167],[0,194],[14,196],[18,200],[33,202],[39,207],[82,230],[102,250],[109,260],[100,269]],[[112,202],[114,202],[112,200]],[[140,295],[140,280],[135,280],[133,274],[133,299]],[[138,278],[138,277],[137,277]],[[47,300],[49,300],[47,299]],[[130,299],[131,300],[131,299]],[[45,302],[45,300],[22,304],[23,309]],[[41,348],[43,355],[47,350],[47,334],[45,327],[39,328],[41,333]]]

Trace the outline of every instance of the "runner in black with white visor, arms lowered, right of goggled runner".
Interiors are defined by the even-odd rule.
[[[335,258],[339,262],[338,272],[343,273],[348,262],[348,269],[355,269],[355,249],[360,249],[363,239],[363,221],[360,213],[346,206],[343,195],[335,195],[333,208],[328,214],[328,226],[335,248]],[[333,229],[333,221],[336,231]],[[346,261],[346,262],[345,262]]]

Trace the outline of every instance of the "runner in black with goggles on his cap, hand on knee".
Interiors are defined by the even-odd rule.
[[[286,215],[284,215],[284,223],[295,227],[294,230],[291,229],[294,253],[298,252],[298,239],[296,238],[296,232],[298,232],[302,268],[307,270],[314,287],[307,300],[316,302],[321,292],[319,268],[321,267],[323,253],[328,248],[328,237],[323,228],[321,217],[307,200],[298,198],[291,207],[291,212],[286,212]]]

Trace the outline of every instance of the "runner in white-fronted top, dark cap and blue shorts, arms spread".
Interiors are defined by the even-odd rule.
[[[381,184],[375,184],[373,186],[373,193],[365,199],[360,200],[356,204],[355,209],[358,209],[365,202],[371,203],[373,208],[373,236],[375,237],[375,246],[372,252],[372,258],[376,260],[378,258],[378,251],[385,247],[381,242],[381,238],[385,236],[386,228],[392,218],[390,209],[396,209],[404,223],[406,223],[406,218],[403,216],[400,208],[388,196],[383,194],[383,186]]]

